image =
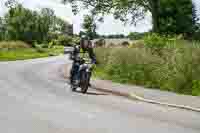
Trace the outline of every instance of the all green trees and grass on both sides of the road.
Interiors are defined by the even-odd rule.
[[[52,9],[34,11],[18,0],[6,0],[8,11],[0,17],[0,61],[47,57],[63,53],[64,46],[79,42],[81,35],[97,42],[98,66],[95,76],[115,82],[142,85],[188,95],[200,95],[200,21],[192,0],[62,0],[90,7],[83,31],[73,35],[73,27]],[[147,13],[152,30],[124,35],[98,35],[105,14],[125,24],[137,24]],[[105,38],[129,38],[120,47],[104,44]],[[19,41],[20,40],[20,41]],[[117,47],[116,47],[117,46]]]

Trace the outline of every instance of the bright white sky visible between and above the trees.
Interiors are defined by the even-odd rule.
[[[6,12],[4,2],[6,0],[0,0],[0,16]],[[62,19],[73,23],[74,32],[79,33],[83,22],[83,16],[88,12],[82,10],[76,16],[73,15],[70,5],[61,4],[60,0],[19,0],[25,7],[32,10],[38,10],[41,8],[52,8],[56,15]],[[200,16],[200,0],[193,0],[196,5],[198,15]],[[128,34],[129,32],[145,32],[152,28],[151,16],[147,14],[145,19],[135,25],[124,25],[119,20],[115,20],[112,15],[107,15],[104,18],[104,23],[98,25],[97,32],[99,34]]]

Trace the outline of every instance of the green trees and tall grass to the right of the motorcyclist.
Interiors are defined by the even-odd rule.
[[[122,43],[117,47],[104,45],[104,36],[101,37],[95,50],[99,63],[95,76],[120,83],[200,95],[200,42],[197,41],[200,40],[200,24],[194,1],[63,1],[71,3],[75,13],[78,3],[82,2],[84,7],[92,7],[92,15],[112,14],[125,24],[137,24],[147,13],[151,14],[150,31],[128,35],[133,44]]]

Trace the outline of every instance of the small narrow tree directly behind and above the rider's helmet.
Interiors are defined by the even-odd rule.
[[[97,24],[93,15],[84,16],[82,27],[84,29],[85,35],[88,36],[90,39],[94,39],[96,37]]]

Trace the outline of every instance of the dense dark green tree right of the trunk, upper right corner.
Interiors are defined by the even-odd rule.
[[[192,0],[161,0],[159,33],[190,34],[193,29]]]

